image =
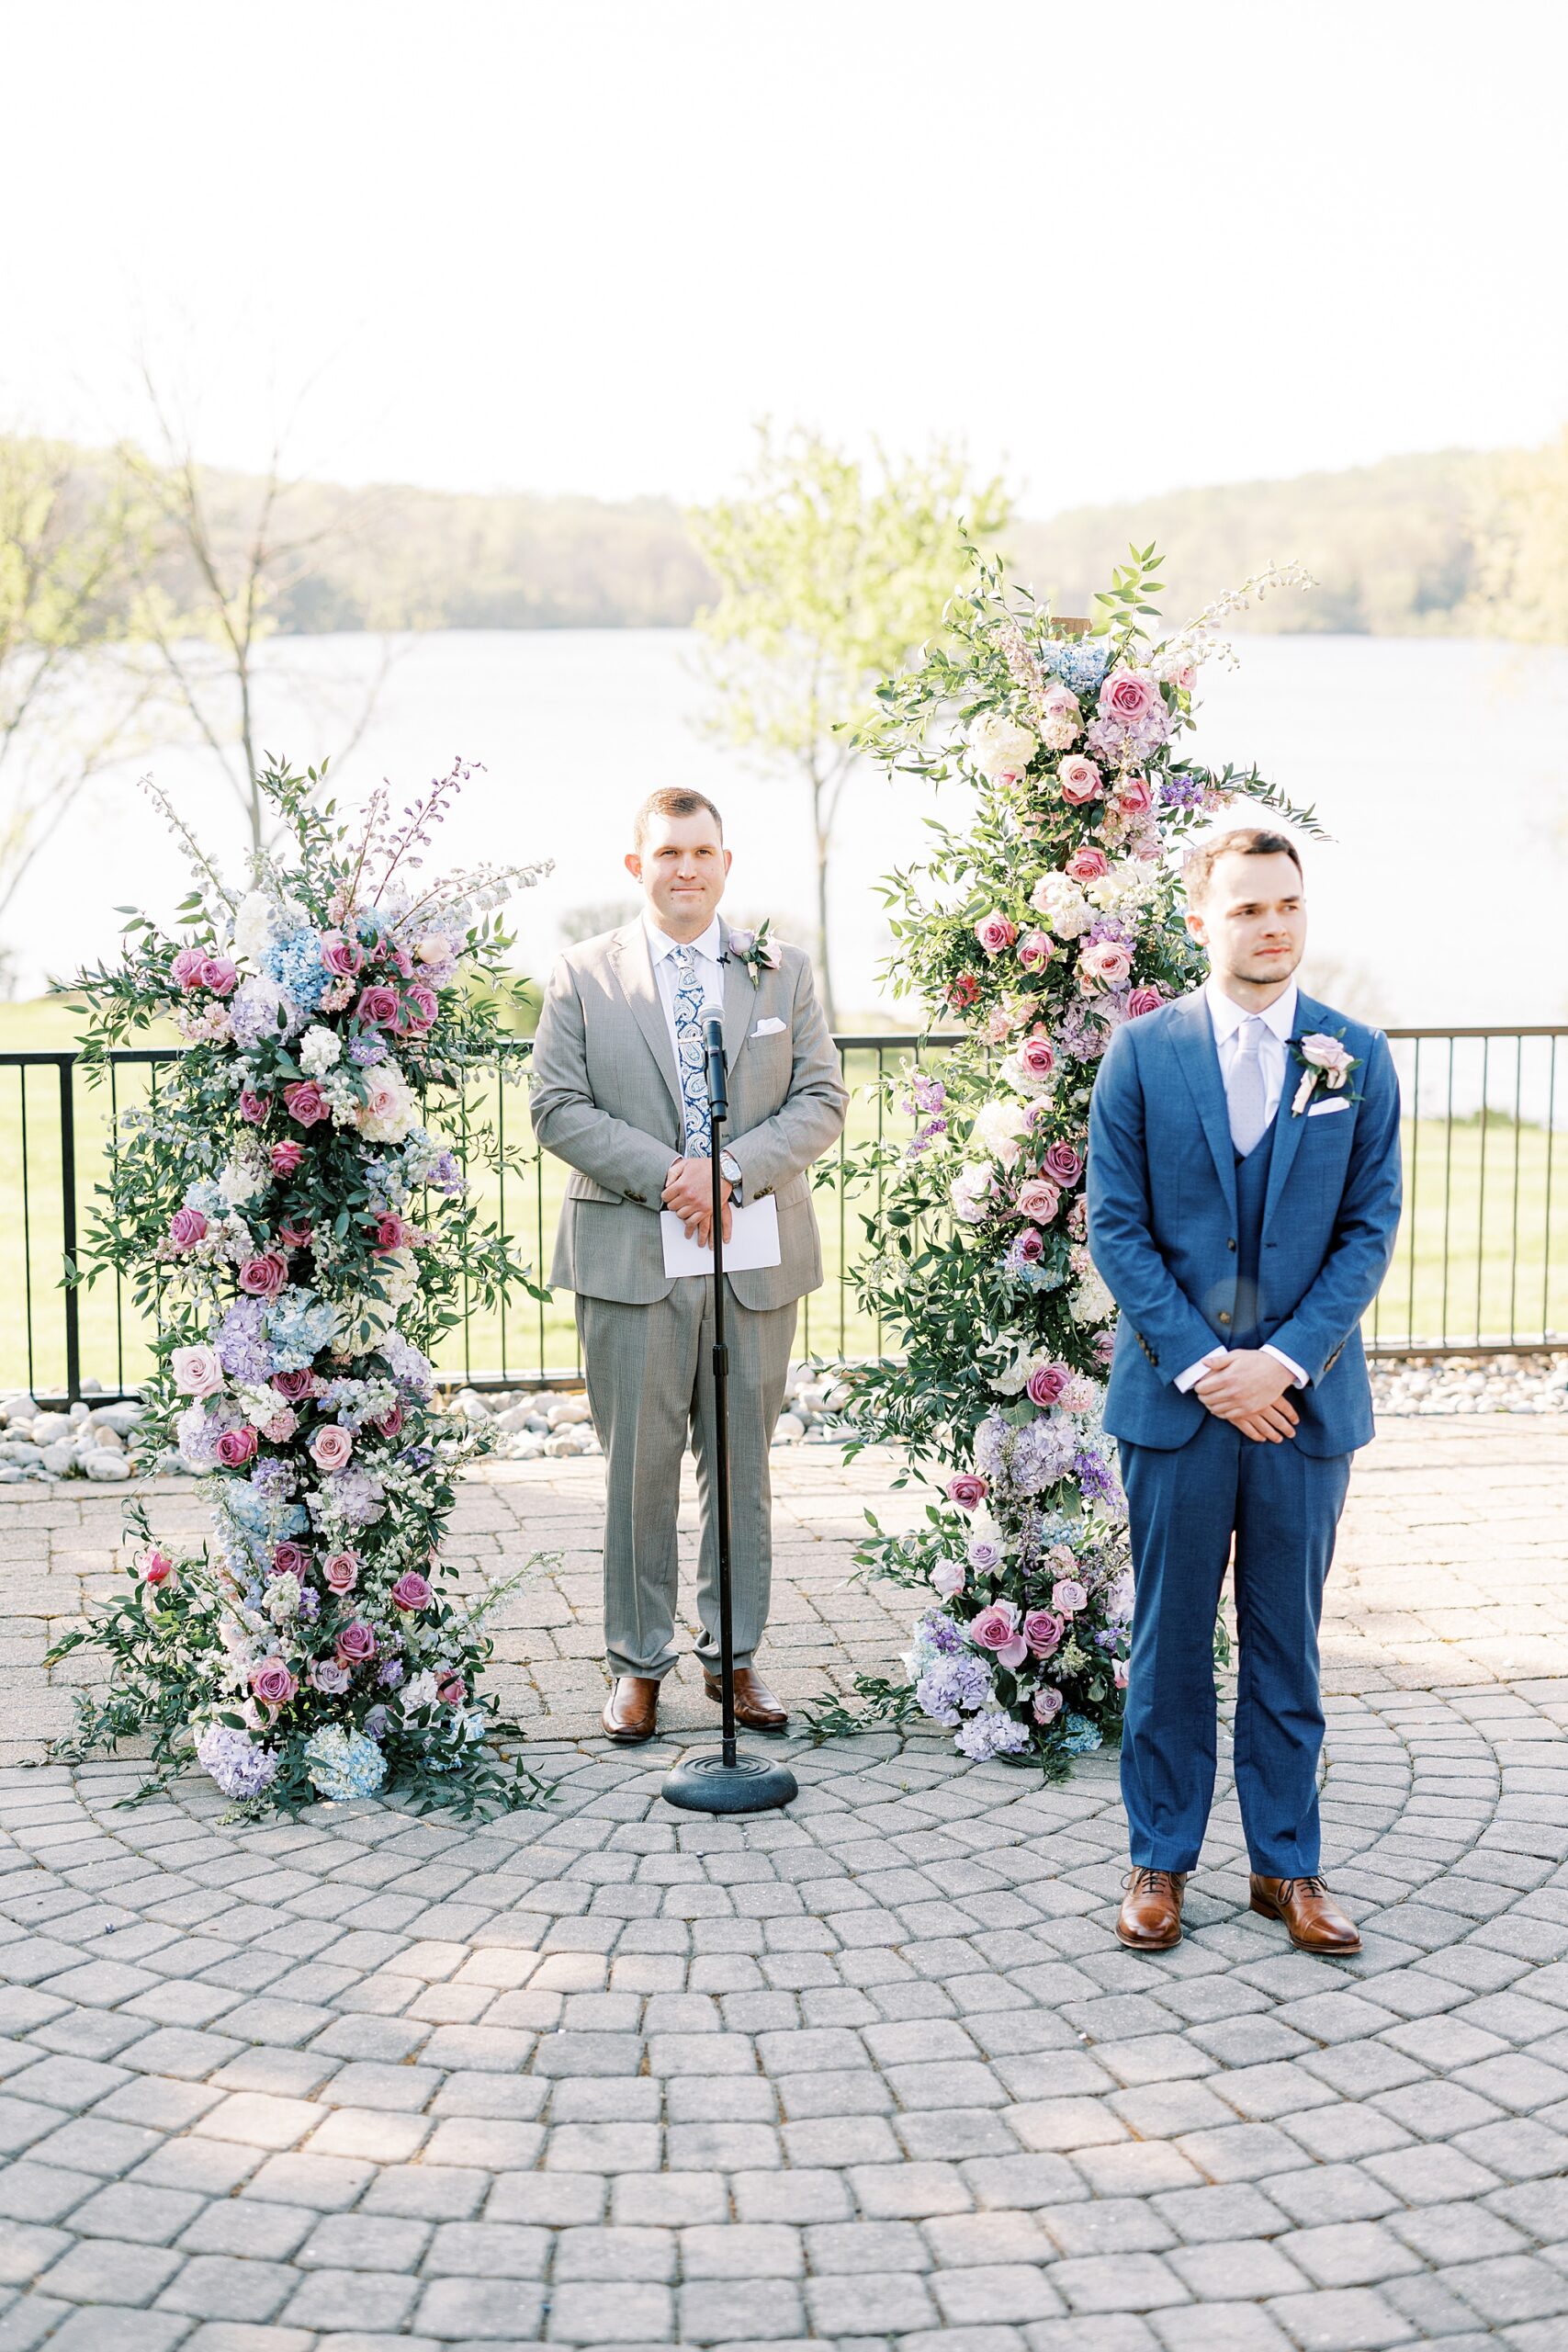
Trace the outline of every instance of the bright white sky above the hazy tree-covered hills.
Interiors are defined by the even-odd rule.
[[[9,0],[0,421],[705,496],[762,414],[1051,513],[1568,416],[1561,0]]]

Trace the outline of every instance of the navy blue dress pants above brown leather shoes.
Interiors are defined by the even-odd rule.
[[[1251,1867],[1319,1870],[1324,1748],[1316,1630],[1349,1454],[1260,1444],[1204,1416],[1173,1451],[1121,1442],[1133,1538],[1133,1658],[1121,1729],[1131,1858],[1194,1870],[1215,1771],[1213,1621],[1237,1548],[1237,1797]]]

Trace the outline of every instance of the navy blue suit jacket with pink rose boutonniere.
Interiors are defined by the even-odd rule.
[[[1258,1298],[1241,1296],[1237,1157],[1204,990],[1128,1021],[1110,1042],[1088,1110],[1088,1249],[1121,1322],[1105,1428],[1128,1444],[1182,1446],[1204,1423],[1178,1374],[1232,1331],[1300,1364],[1293,1444],[1349,1454],[1373,1435],[1361,1317],[1399,1230],[1399,1080],[1387,1037],[1312,997],[1295,1035],[1342,1033],[1361,1061],[1349,1110],[1293,1115],[1291,1056],[1269,1150]],[[1333,1101],[1319,1084],[1314,1103]]]

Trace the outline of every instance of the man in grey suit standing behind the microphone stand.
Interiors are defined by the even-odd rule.
[[[658,1684],[675,1665],[679,1465],[691,1439],[703,1505],[698,1661],[719,1698],[712,1524],[712,1279],[668,1275],[658,1214],[710,1240],[712,1136],[701,1011],[724,1011],[731,1202],[778,1204],[778,1265],[726,1275],[736,1717],[783,1731],[785,1708],[752,1658],[769,1613],[769,1444],[790,1371],[799,1298],[823,1279],[806,1169],[844,1127],[839,1056],[799,948],[771,948],[719,920],[731,854],[701,793],[654,793],[625,870],[637,922],[569,948],[550,974],[534,1037],[534,1134],[571,1181],[550,1282],[576,1294],[588,1404],[607,1454],[604,1646],[611,1740],[654,1738]]]

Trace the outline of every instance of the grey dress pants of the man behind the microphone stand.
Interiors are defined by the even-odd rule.
[[[729,1348],[729,1559],[736,1665],[769,1618],[773,1489],[769,1446],[783,1409],[797,1301],[743,1308],[724,1284]],[[576,1298],[592,1425],[604,1446],[604,1651],[611,1675],[661,1682],[675,1665],[679,1470],[696,1454],[703,1510],[696,1609],[701,1663],[719,1670],[715,1536],[712,1279],[682,1275],[668,1298],[628,1308]]]

